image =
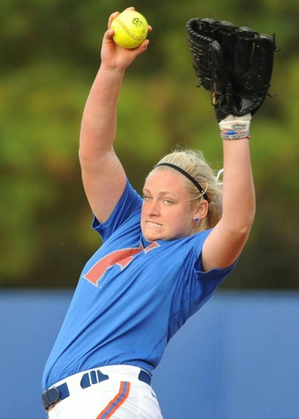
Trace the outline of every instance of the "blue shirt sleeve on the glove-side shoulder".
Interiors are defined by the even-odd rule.
[[[221,282],[231,273],[237,264],[234,261],[231,266],[226,268],[210,269],[204,272],[201,263],[201,251],[203,243],[208,237],[210,230],[205,230],[198,233],[198,240],[195,241],[195,245],[189,249],[187,258],[190,260],[190,275],[188,276],[187,287],[189,288],[190,295],[190,313],[189,316],[194,314],[206,301],[211,298],[213,293]]]

